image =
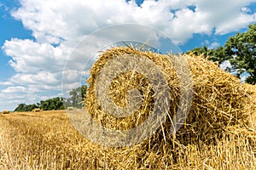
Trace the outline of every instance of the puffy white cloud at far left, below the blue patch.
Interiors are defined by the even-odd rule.
[[[38,43],[16,38],[6,41],[3,45],[5,54],[12,57],[9,64],[15,71],[22,73],[60,71],[55,69],[65,64],[71,50],[72,48],[67,48],[65,44],[55,48],[48,42]]]

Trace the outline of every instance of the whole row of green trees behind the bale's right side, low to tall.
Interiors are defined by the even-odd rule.
[[[194,48],[188,53],[195,55],[205,54],[208,59],[218,61],[221,64],[224,60],[229,60],[231,69],[227,71],[236,72],[240,77],[242,73],[249,74],[246,82],[255,84],[256,82],[256,24],[249,25],[244,33],[236,33],[236,36],[230,37],[224,47],[209,49],[206,46]]]

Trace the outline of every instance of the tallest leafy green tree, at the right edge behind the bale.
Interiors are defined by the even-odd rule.
[[[237,76],[244,72],[249,74],[246,82],[256,82],[256,24],[249,25],[244,33],[236,33],[225,43],[224,53],[230,59],[232,69]]]

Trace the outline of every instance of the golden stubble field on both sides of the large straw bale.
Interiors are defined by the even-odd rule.
[[[177,146],[178,151],[169,155],[173,161],[163,158],[159,165],[174,169],[255,169],[255,144],[246,132],[237,133],[212,144]],[[84,139],[65,111],[0,115],[0,169],[125,169],[121,154],[108,155],[108,150],[114,149]],[[134,168],[143,167],[139,163],[145,167],[148,164],[137,161],[134,155],[129,159]]]

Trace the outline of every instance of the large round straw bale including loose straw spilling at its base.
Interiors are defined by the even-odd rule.
[[[171,89],[171,103],[166,122],[154,135],[132,148],[107,150],[100,148],[99,150],[94,150],[98,155],[97,159],[100,161],[103,160],[105,154],[108,154],[108,156],[119,156],[119,159],[124,161],[121,164],[125,168],[134,168],[133,166],[135,165],[137,168],[141,168],[143,164],[148,164],[153,168],[160,168],[154,167],[154,165],[160,165],[160,162],[165,159],[174,159],[173,157],[168,158],[168,155],[171,155],[171,152],[176,150],[176,145],[186,145],[198,141],[212,143],[214,139],[220,139],[227,129],[230,129],[227,127],[241,127],[247,124],[247,117],[253,114],[253,111],[245,109],[248,104],[252,103],[252,99],[248,98],[247,91],[243,88],[238,78],[220,70],[218,65],[214,65],[211,61],[204,59],[203,56],[184,54],[183,57],[189,64],[193,79],[193,100],[183,127],[175,135],[169,134],[172,128],[172,116],[179,108],[179,99],[181,97],[181,84],[172,64],[172,60],[175,60],[177,56],[154,54],[136,48],[118,47],[110,48],[99,56],[99,59],[90,70],[90,77],[87,81],[89,88],[84,100],[86,110],[96,122],[99,122],[104,127],[115,130],[127,130],[137,127],[147,119],[154,107],[154,88],[150,85],[147,77],[143,77],[137,71],[126,71],[115,77],[109,88],[110,98],[119,107],[127,105],[129,100],[127,99],[127,93],[129,90],[133,88],[139,90],[143,95],[143,101],[141,102],[141,107],[133,115],[127,117],[113,116],[105,112],[102,109],[102,105],[99,105],[96,97],[96,77],[108,61],[123,54],[135,54],[138,57],[150,59],[155,65],[159,66]],[[111,162],[113,167],[118,167],[113,161]],[[120,165],[120,167],[122,166]]]

